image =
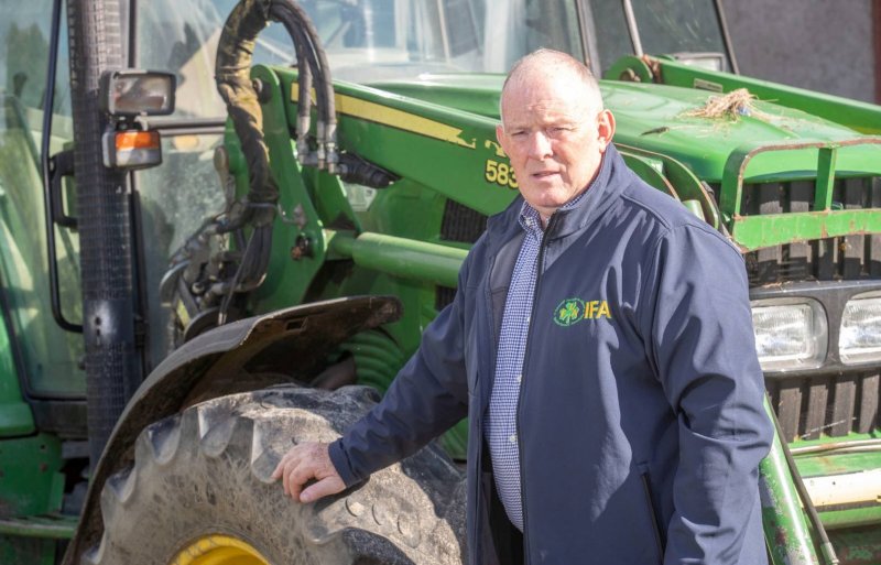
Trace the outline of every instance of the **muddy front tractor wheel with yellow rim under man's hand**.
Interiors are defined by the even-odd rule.
[[[83,563],[460,564],[465,486],[437,447],[312,504],[271,474],[294,443],[329,442],[376,403],[365,387],[270,388],[196,404],[141,432],[101,491]]]

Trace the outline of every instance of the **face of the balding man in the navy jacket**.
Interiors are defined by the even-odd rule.
[[[524,70],[502,99],[496,130],[511,160],[520,193],[544,217],[596,176],[614,132],[608,110],[570,74]]]

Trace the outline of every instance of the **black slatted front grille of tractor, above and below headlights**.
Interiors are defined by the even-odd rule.
[[[814,181],[746,185],[743,211],[808,211]],[[834,209],[881,208],[881,178],[837,181]],[[747,253],[750,286],[790,281],[881,279],[881,236],[845,236]],[[879,371],[769,380],[768,392],[785,439],[868,433],[879,425]]]

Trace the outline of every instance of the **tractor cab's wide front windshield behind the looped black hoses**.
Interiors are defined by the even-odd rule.
[[[178,76],[178,117],[224,117],[214,86],[217,41],[236,0],[138,3],[138,65]],[[584,58],[574,0],[303,0],[334,78],[358,83],[422,73],[505,73],[551,47]],[[294,64],[280,24],[261,32],[254,62]]]

